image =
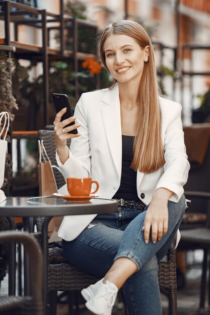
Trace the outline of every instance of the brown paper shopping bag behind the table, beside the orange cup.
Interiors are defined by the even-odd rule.
[[[57,185],[52,170],[52,165],[45,150],[43,140],[38,140],[39,146],[39,165],[38,165],[38,180],[39,180],[39,196],[49,196],[57,193]],[[44,162],[42,162],[42,160]],[[48,224],[49,243],[61,241],[57,235],[57,231],[62,222],[62,216],[53,217]]]

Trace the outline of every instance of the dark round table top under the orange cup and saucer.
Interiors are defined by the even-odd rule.
[[[0,203],[0,216],[60,216],[99,214],[117,211],[117,201],[93,198],[90,201],[66,201],[59,197],[7,197]]]

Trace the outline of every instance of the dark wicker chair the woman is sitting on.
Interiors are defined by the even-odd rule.
[[[57,165],[55,160],[54,131],[39,130],[39,138],[43,140],[45,149],[52,165]],[[57,187],[60,188],[64,179],[59,171],[53,168]],[[37,231],[42,230],[44,217],[36,220]],[[56,261],[56,258],[54,259]],[[60,261],[60,257],[59,257]],[[65,261],[63,257],[63,261]],[[159,263],[159,285],[169,297],[169,314],[177,314],[177,284],[176,284],[176,250],[168,251],[166,261]],[[86,274],[69,263],[48,264],[48,293],[56,291],[82,290],[84,287],[98,281],[99,278]],[[51,295],[52,296],[52,295]],[[55,298],[50,298],[53,305],[50,306],[50,315],[56,313]]]

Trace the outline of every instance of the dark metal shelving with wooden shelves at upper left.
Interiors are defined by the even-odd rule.
[[[78,31],[79,29],[91,28],[97,31],[96,25],[86,20],[75,19],[63,13],[63,0],[60,0],[60,14],[52,14],[46,10],[30,7],[26,4],[12,1],[0,1],[0,19],[4,20],[5,38],[0,39],[0,50],[7,51],[9,57],[17,59],[37,60],[43,64],[43,99],[44,117],[43,127],[49,124],[49,61],[66,60],[73,63],[74,71],[78,71],[79,62],[87,58],[96,58],[93,53],[79,51]],[[11,23],[14,25],[15,40],[11,40]],[[54,26],[54,25],[57,26]],[[19,26],[27,25],[41,30],[42,45],[28,44],[19,41]],[[71,50],[65,49],[64,30],[70,29],[73,38]],[[49,33],[57,30],[59,34],[60,47],[49,47]],[[79,98],[79,88],[76,80],[75,97]],[[99,75],[96,83],[100,86]]]

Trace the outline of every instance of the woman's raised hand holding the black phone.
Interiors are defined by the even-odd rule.
[[[57,153],[60,157],[60,161],[66,161],[67,151],[65,149],[66,143],[68,139],[77,138],[80,136],[80,133],[67,133],[68,131],[72,131],[80,127],[81,124],[73,124],[72,126],[65,127],[69,123],[76,120],[75,116],[69,117],[61,121],[62,115],[66,112],[66,108],[61,109],[55,116],[55,120],[53,122],[54,125],[54,136],[55,136],[55,146]],[[66,147],[67,148],[67,147]],[[62,162],[63,163],[63,162]],[[64,163],[63,163],[64,164]]]

